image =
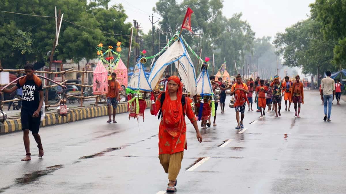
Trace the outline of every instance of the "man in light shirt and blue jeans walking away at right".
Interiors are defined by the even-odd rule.
[[[330,122],[330,114],[331,114],[331,105],[335,96],[335,82],[334,79],[330,78],[331,72],[326,72],[327,77],[323,78],[321,81],[321,99],[324,103],[324,113],[325,116],[323,118],[324,121]],[[327,105],[328,105],[328,113],[327,113]]]

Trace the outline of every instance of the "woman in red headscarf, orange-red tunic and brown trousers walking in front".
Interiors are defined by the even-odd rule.
[[[169,184],[167,192],[176,191],[176,177],[181,168],[181,161],[184,155],[186,146],[186,123],[185,115],[190,119],[194,129],[196,130],[197,139],[201,143],[202,136],[197,126],[196,117],[192,111],[190,98],[185,97],[185,105],[182,105],[183,84],[177,76],[168,78],[168,83],[165,91],[165,99],[161,105],[160,94],[156,103],[156,110],[162,112],[162,119],[158,132],[158,148],[160,163],[168,173]],[[154,115],[153,106],[150,107],[151,114]]]

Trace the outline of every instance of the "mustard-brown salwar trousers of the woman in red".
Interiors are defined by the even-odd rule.
[[[165,170],[165,173],[168,173],[168,179],[175,181],[176,177],[179,174],[181,168],[181,161],[183,160],[184,152],[176,152],[174,154],[160,154],[158,158],[160,163]]]

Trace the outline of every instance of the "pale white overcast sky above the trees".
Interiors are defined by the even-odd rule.
[[[152,8],[158,0],[111,0],[110,4],[122,3],[128,15],[128,22],[137,20],[144,32],[151,29],[152,24],[148,16],[153,13]],[[176,0],[181,2],[181,0]],[[308,18],[309,4],[314,0],[224,0],[223,14],[227,18],[234,13],[243,13],[243,20],[247,20],[257,37],[272,36],[276,32],[283,32],[299,20]],[[185,14],[185,13],[177,13]],[[160,17],[154,14],[156,17]],[[154,18],[156,21],[158,18]],[[192,27],[193,28],[193,27]]]

